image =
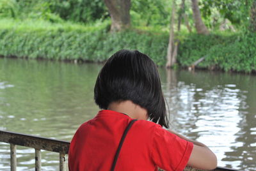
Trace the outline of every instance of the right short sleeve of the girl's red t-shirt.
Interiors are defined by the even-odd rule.
[[[156,125],[153,134],[152,159],[166,171],[184,170],[193,149],[193,143]]]

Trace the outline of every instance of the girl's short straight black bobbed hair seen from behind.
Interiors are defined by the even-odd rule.
[[[97,77],[94,100],[102,109],[131,100],[147,109],[151,121],[169,128],[157,66],[138,50],[119,50],[108,59]]]

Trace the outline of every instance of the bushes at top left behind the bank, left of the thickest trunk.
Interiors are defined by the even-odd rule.
[[[0,0],[0,16],[51,22],[92,22],[108,15],[101,0]]]

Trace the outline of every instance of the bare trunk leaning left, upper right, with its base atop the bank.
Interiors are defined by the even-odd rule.
[[[201,18],[200,10],[198,7],[197,0],[191,0],[192,10],[193,10],[193,17],[195,19],[195,26],[196,31],[198,34],[209,34],[207,27],[204,25],[204,22]]]

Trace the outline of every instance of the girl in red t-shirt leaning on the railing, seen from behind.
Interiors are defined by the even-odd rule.
[[[156,64],[145,54],[113,54],[97,77],[94,98],[102,110],[72,138],[70,170],[216,168],[207,146],[162,128],[168,128],[168,119],[161,82]]]

